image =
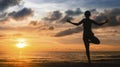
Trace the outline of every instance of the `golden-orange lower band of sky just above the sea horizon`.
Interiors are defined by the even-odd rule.
[[[0,45],[2,47],[0,51],[13,52],[19,50],[20,48],[18,48],[16,44],[19,43],[20,38],[25,39],[25,42],[28,45],[22,48],[24,51],[85,51],[81,32],[63,37],[54,37],[53,35],[58,33],[58,30],[66,30],[66,28],[55,29],[52,31],[34,31],[34,29],[27,28],[26,30],[22,28],[18,29],[1,31],[3,34],[0,37]],[[91,44],[91,51],[119,51],[119,41],[115,40],[115,37],[111,36],[112,33],[106,34],[104,33],[104,30],[104,32],[101,32],[101,34],[99,34],[98,32],[100,32],[100,30],[101,28],[95,30],[94,32],[96,33],[96,36],[98,36],[101,40],[101,44]],[[104,38],[105,35],[108,36]],[[109,39],[108,37],[112,39]]]

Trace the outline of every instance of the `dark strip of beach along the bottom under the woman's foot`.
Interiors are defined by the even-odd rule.
[[[104,61],[103,61],[104,62]],[[82,62],[51,62],[51,63],[25,63],[14,62],[3,64],[0,67],[120,67],[120,63],[82,63]]]

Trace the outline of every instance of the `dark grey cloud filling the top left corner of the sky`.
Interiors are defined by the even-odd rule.
[[[21,0],[0,0],[0,11],[4,11],[10,6],[18,5]]]

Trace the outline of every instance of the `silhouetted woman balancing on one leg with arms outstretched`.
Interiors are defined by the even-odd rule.
[[[80,24],[83,24],[83,29],[84,29],[83,41],[84,41],[84,45],[85,45],[85,48],[86,48],[86,55],[87,55],[87,58],[88,58],[88,63],[91,63],[90,51],[89,51],[90,43],[100,44],[99,39],[97,37],[95,37],[94,33],[92,32],[92,29],[91,29],[92,23],[101,26],[101,25],[107,23],[108,20],[106,20],[103,23],[97,23],[94,20],[90,19],[90,16],[91,16],[90,11],[86,11],[84,15],[85,15],[85,18],[82,19],[78,23],[73,23],[70,20],[67,20],[67,22],[69,22],[69,23],[71,23],[73,25],[76,25],[76,26],[78,26]]]

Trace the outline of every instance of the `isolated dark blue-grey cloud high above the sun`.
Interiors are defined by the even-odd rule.
[[[30,8],[23,8],[18,12],[12,12],[9,14],[9,17],[12,17],[15,20],[26,19],[26,17],[31,16],[33,14],[33,10]]]

